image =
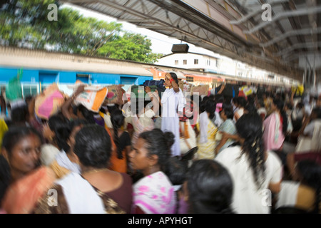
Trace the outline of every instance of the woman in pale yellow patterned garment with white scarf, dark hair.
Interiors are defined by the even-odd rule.
[[[204,107],[204,108],[203,108]],[[210,121],[215,115],[216,103],[214,100],[206,100],[202,102],[200,110],[200,122],[197,124],[198,135],[198,159],[213,159],[215,157],[215,134],[218,130],[214,123]]]

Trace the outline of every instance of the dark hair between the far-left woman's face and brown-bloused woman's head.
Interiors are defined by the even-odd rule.
[[[48,121],[49,128],[55,133],[53,138],[59,150],[68,152],[70,147],[67,143],[71,130],[69,128],[69,120],[61,113],[51,115]]]

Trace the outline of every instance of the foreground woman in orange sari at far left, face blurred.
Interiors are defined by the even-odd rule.
[[[9,214],[28,214],[36,206],[56,176],[49,167],[41,166],[41,136],[29,127],[12,127],[6,132],[2,154],[9,161],[11,180],[2,202]]]

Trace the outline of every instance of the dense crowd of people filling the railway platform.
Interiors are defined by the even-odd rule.
[[[321,212],[320,95],[253,86],[230,96],[225,84],[185,94],[175,73],[165,87],[94,113],[74,103],[78,86],[48,120],[35,97],[11,106],[0,121],[1,213]]]

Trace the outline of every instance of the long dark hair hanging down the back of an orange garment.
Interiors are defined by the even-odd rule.
[[[116,109],[111,112],[111,124],[113,125],[113,142],[115,142],[117,147],[117,157],[118,159],[123,159],[123,153],[121,151],[121,145],[118,137],[118,130],[125,123],[125,116],[123,111]]]

